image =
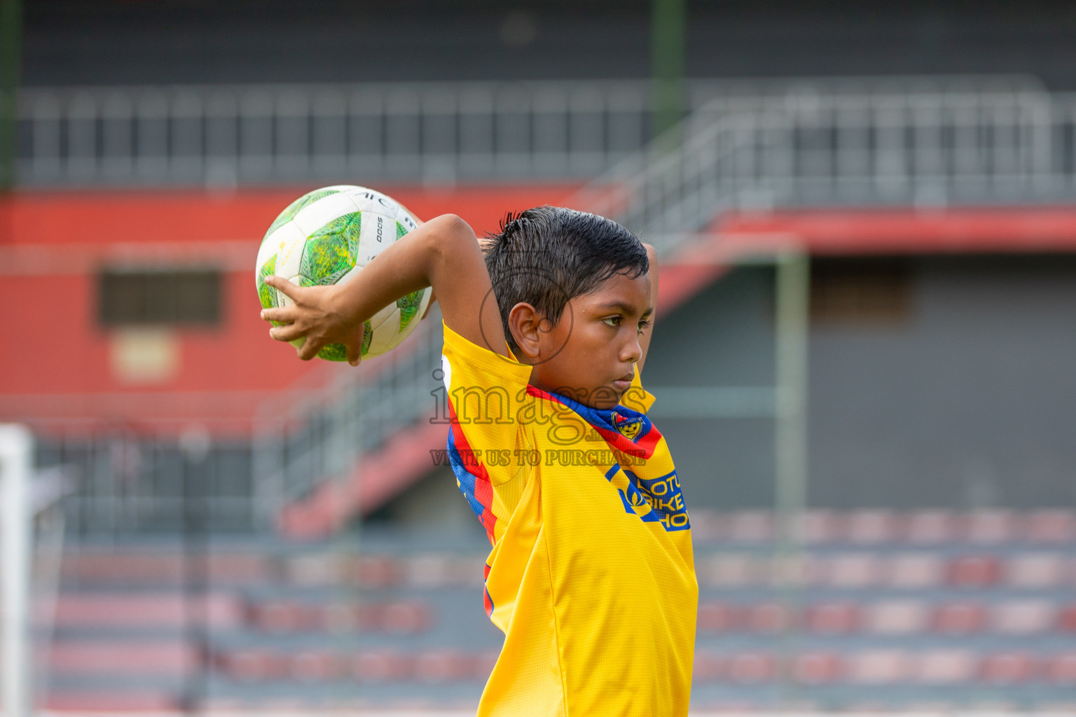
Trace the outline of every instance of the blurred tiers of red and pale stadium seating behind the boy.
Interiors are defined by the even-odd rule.
[[[1076,707],[1072,511],[812,512],[781,559],[770,513],[692,519],[695,709]],[[473,708],[481,530],[363,541],[70,549],[42,703]]]

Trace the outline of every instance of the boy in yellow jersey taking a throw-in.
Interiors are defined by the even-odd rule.
[[[285,324],[273,339],[306,336],[300,358],[340,342],[357,364],[363,320],[433,287],[449,455],[493,545],[484,601],[505,632],[480,716],[685,715],[698,600],[691,530],[639,385],[652,247],[562,207],[509,216],[501,229],[480,248],[444,215],[346,284],[270,277],[295,305],[261,316]]]

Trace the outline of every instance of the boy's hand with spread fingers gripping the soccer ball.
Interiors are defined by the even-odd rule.
[[[268,276],[266,284],[295,302],[291,306],[261,310],[264,320],[282,325],[269,329],[270,336],[277,341],[305,339],[298,349],[303,361],[317,356],[326,344],[343,344],[348,349],[348,363],[358,365],[363,321],[348,320],[336,310],[339,285],[301,287],[282,276]]]

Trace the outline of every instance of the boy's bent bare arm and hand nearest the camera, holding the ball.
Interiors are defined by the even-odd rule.
[[[261,318],[283,324],[278,341],[306,338],[299,358],[309,360],[325,344],[342,343],[357,365],[363,321],[399,297],[433,287],[450,329],[478,345],[508,356],[497,299],[475,232],[459,217],[430,219],[379,254],[353,278],[332,286],[299,287],[281,276],[266,279],[295,304],[266,309]]]

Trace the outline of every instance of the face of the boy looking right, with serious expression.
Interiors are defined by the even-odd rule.
[[[649,274],[614,274],[571,299],[557,325],[539,332],[530,383],[593,408],[614,407],[631,386],[642,355],[639,332],[650,330],[652,312]]]

